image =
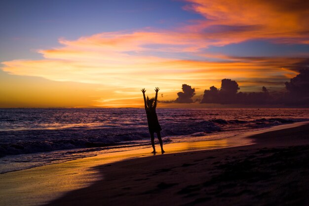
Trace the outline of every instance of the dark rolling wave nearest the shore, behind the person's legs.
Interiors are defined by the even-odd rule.
[[[196,132],[221,131],[221,127],[209,121],[172,123],[165,125],[162,137],[188,135]],[[77,148],[111,147],[134,144],[135,140],[149,138],[147,127],[115,129],[58,129],[3,131],[0,136],[19,136],[20,141],[0,143],[0,156],[49,152]],[[30,141],[27,137],[32,136]],[[25,137],[25,138],[23,138]],[[128,143],[129,142],[129,143]],[[130,143],[131,142],[131,143]]]

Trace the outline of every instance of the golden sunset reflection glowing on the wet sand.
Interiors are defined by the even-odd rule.
[[[221,149],[232,146],[252,144],[252,140],[244,136],[218,140],[179,142],[164,144],[166,154]],[[156,144],[157,155],[161,155]],[[95,167],[111,164],[132,158],[150,157],[151,146],[128,151],[117,151],[68,161],[65,163],[44,165],[30,169],[0,174],[0,205],[28,206],[43,205],[60,197],[66,192],[87,187],[103,178]],[[156,156],[157,156],[156,155]]]

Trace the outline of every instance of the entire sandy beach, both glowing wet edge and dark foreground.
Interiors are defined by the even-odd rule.
[[[141,149],[1,174],[0,205],[305,206],[309,125],[298,125],[169,144],[164,155]]]

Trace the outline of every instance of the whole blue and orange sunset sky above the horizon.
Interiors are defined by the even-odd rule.
[[[2,0],[0,107],[142,107],[156,86],[160,107],[183,107],[164,102],[223,79],[282,91],[308,67],[308,14],[304,0]]]

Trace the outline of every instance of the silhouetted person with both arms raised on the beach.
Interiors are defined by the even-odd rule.
[[[162,154],[164,153],[163,150],[163,143],[162,143],[162,138],[161,138],[161,126],[159,124],[156,112],[155,112],[155,108],[156,108],[156,102],[157,102],[157,97],[158,97],[158,91],[159,91],[159,87],[155,87],[154,91],[155,91],[155,98],[149,98],[147,96],[145,96],[145,88],[141,89],[141,91],[143,92],[143,96],[144,96],[144,103],[145,103],[145,110],[146,110],[146,114],[147,114],[147,122],[148,122],[148,129],[150,132],[150,136],[151,136],[151,144],[153,146],[154,151],[152,152],[155,155],[155,147],[154,147],[154,133],[156,133],[157,138],[159,140],[160,143],[160,147],[161,147],[161,152]]]

